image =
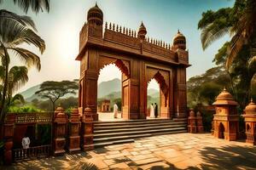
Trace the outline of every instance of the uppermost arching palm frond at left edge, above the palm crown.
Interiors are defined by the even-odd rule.
[[[32,28],[32,30],[37,31],[34,21],[29,16],[26,15],[19,15],[9,12],[8,10],[5,9],[1,9],[0,20],[13,20],[22,26],[27,26],[29,28]]]

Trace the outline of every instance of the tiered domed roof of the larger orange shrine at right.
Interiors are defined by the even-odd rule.
[[[216,101],[212,105],[238,105],[233,99],[232,95],[227,91],[226,88],[218,94]]]

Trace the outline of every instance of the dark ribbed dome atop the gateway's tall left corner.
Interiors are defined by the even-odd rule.
[[[95,4],[95,7],[89,9],[87,13],[87,21],[89,24],[96,24],[97,26],[102,26],[103,13],[102,9],[98,7],[97,3]]]

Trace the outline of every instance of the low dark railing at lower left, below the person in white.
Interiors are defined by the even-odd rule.
[[[13,160],[22,161],[48,157],[50,156],[51,150],[50,144],[30,147],[28,149],[16,149],[13,150]]]

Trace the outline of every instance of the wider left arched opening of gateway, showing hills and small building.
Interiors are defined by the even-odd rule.
[[[121,118],[122,110],[122,71],[113,63],[105,65],[99,71],[97,84],[97,113],[99,120],[113,121],[114,112],[117,110],[117,118]],[[114,105],[117,105],[114,106]]]

